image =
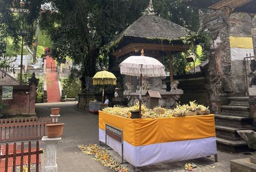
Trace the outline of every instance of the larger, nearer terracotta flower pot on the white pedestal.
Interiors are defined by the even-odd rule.
[[[65,123],[51,123],[45,125],[48,138],[60,138],[62,136],[64,124]]]

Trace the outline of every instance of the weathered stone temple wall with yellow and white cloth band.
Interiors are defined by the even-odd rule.
[[[252,21],[246,13],[212,12],[205,18],[214,41],[209,58],[212,96],[246,96],[243,61],[246,54],[253,56]]]

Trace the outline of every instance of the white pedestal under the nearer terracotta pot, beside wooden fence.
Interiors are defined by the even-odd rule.
[[[44,167],[45,172],[57,172],[58,166],[56,163],[57,154],[57,143],[61,138],[48,138],[47,136],[42,137],[42,141],[46,144],[46,164]]]

